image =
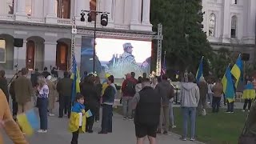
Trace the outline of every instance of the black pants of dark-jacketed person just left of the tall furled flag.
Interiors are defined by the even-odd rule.
[[[71,112],[71,98],[69,96],[59,96],[59,117],[63,117],[63,110],[66,108],[68,113],[68,118],[70,118]]]

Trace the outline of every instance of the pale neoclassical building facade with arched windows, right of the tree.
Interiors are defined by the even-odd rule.
[[[202,0],[203,30],[214,50],[221,47],[255,58],[256,0]]]

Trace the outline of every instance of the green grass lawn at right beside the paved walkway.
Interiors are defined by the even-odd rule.
[[[114,109],[114,111],[122,114],[122,106]],[[218,114],[213,114],[209,109],[205,117],[197,117],[196,139],[207,144],[236,144],[242,132],[246,114],[242,113],[241,110],[235,110],[234,114],[226,114],[224,110],[221,110]],[[173,129],[172,132],[182,134],[180,108],[174,108],[174,118],[177,128]],[[190,134],[190,129],[188,129],[188,134]]]

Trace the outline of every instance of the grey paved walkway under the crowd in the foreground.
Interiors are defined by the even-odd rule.
[[[55,114],[56,111],[55,111]],[[31,144],[51,144],[61,143],[69,144],[72,134],[67,131],[67,118],[49,117],[49,130],[46,134],[35,133],[29,139]],[[123,121],[122,116],[114,114],[113,117],[113,133],[112,134],[98,134],[100,130],[100,122],[94,124],[93,134],[80,134],[79,143],[90,144],[135,144],[134,123],[131,121]],[[1,130],[0,130],[1,131]],[[4,136],[5,143],[11,144],[9,138]],[[146,142],[149,143],[149,142]],[[158,135],[158,144],[194,144],[196,142],[183,142],[179,140],[176,134]]]

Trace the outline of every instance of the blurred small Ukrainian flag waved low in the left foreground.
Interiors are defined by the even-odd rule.
[[[34,130],[39,129],[38,117],[34,110],[29,110],[26,113],[17,115],[18,125],[22,128],[22,132],[30,136]]]

